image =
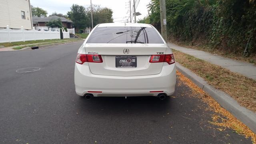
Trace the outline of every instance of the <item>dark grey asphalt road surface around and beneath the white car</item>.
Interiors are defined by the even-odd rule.
[[[173,98],[92,98],[74,90],[82,42],[0,52],[1,144],[248,144],[211,125],[211,112],[177,82]],[[17,73],[20,68],[35,72]]]

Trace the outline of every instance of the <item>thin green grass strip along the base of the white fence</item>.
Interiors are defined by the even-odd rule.
[[[67,40],[69,38],[65,38],[64,40]],[[9,46],[20,46],[25,44],[35,44],[35,43],[41,43],[41,42],[56,42],[61,41],[60,39],[52,39],[52,40],[29,40],[25,42],[4,42],[0,43],[0,46],[9,47]]]

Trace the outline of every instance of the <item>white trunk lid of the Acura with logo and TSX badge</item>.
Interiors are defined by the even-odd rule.
[[[166,52],[165,44],[89,43],[85,44],[85,48],[86,54],[101,55],[103,60],[102,63],[88,63],[92,74],[108,76],[143,76],[159,74],[162,70],[163,62],[150,63],[150,56],[155,54],[165,54]],[[129,64],[129,60],[131,64]]]

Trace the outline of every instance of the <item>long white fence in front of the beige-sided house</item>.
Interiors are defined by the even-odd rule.
[[[63,32],[63,38],[70,38],[69,32]],[[25,30],[23,27],[19,30],[12,30],[7,28],[0,30],[0,43],[1,42],[20,42],[28,40],[48,40],[60,39],[59,30]]]

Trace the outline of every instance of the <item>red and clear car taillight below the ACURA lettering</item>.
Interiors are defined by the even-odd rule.
[[[103,62],[103,60],[98,54],[77,54],[76,62],[83,64],[84,62]]]

